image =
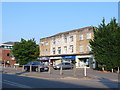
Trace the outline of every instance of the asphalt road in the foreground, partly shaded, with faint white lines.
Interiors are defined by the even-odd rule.
[[[3,74],[2,88],[118,88],[118,82],[107,79],[76,80],[68,78],[47,80]]]

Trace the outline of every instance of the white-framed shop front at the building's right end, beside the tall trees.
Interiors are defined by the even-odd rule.
[[[87,68],[94,69],[96,67],[96,62],[92,55],[78,55],[76,56],[76,67],[77,68]]]

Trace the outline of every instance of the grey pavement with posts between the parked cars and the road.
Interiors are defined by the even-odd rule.
[[[107,79],[110,81],[119,81],[118,73],[111,72],[101,72],[93,69],[87,69],[87,76],[84,76],[84,69],[76,69],[74,73],[73,70],[63,70],[63,74],[60,75],[60,70],[51,70],[51,74],[49,72],[25,72],[22,68],[3,68],[3,73],[6,74],[14,74],[17,76],[25,76],[32,78],[40,78],[40,79],[63,79],[63,80],[91,80],[91,79]]]

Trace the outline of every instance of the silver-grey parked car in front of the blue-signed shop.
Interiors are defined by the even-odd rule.
[[[58,64],[58,65],[56,65],[56,66],[53,66],[53,68],[54,68],[55,70],[60,70],[60,67],[61,67],[61,66],[62,66],[62,69],[73,69],[74,64],[69,63],[69,62],[63,62],[63,63],[60,63],[60,64]]]

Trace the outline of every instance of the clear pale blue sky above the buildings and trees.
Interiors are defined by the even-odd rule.
[[[4,2],[2,43],[48,37],[118,19],[117,2]]]

